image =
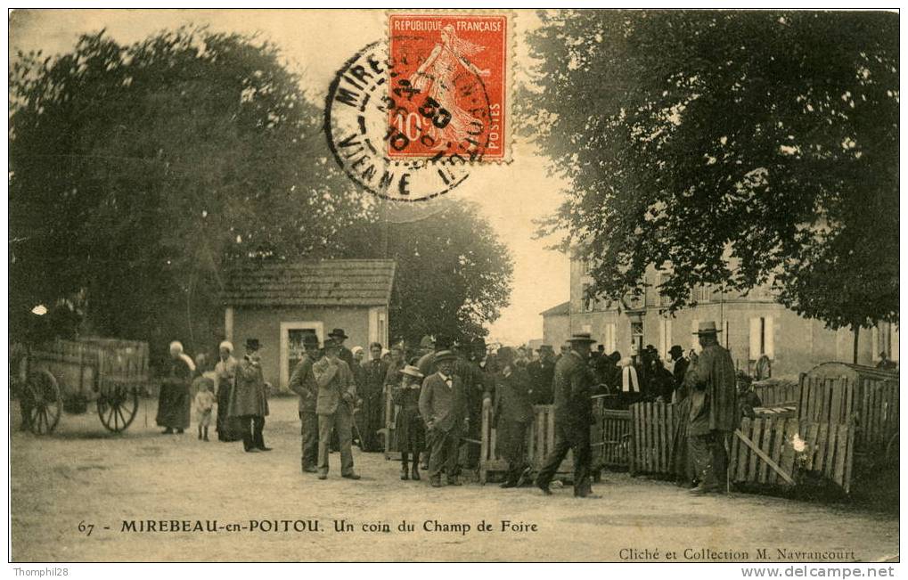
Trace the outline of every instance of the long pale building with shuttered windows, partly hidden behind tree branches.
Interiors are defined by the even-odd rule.
[[[636,354],[653,345],[663,358],[672,345],[698,349],[696,331],[701,321],[714,320],[723,332],[719,340],[729,349],[739,369],[753,372],[763,355],[772,362],[774,377],[796,378],[821,362],[852,362],[854,334],[850,329],[831,330],[820,320],[804,319],[775,301],[769,288],[742,295],[696,287],[696,306],[668,314],[667,301],[659,296],[663,274],[646,270],[638,298],[609,301],[588,297],[593,280],[584,261],[572,260],[570,268],[570,332],[590,332],[606,352]],[[885,352],[898,360],[898,327],[881,323],[859,333],[858,363],[874,365]]]

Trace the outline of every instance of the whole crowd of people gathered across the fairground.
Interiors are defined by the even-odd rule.
[[[535,417],[533,406],[552,405],[555,447],[535,484],[550,493],[558,467],[572,450],[574,495],[595,496],[590,474],[592,400],[610,395],[618,407],[646,399],[682,405],[685,420],[676,427],[676,472],[681,481],[696,485],[694,493],[717,492],[727,437],[737,427],[742,405],[759,405],[746,388],[738,393],[735,367],[716,339],[718,332],[715,323],[701,324],[701,352],[685,356],[676,345],[666,361],[652,346],[635,357],[606,354],[601,347],[592,350],[596,340],[588,333],[573,335],[558,354],[550,345],[534,353],[526,347],[489,349],[483,339],[458,342],[428,336],[415,350],[399,341],[390,349],[375,342],[367,351],[348,349],[343,329],[333,329],[322,343],[306,335],[289,381],[299,397],[301,471],[327,479],[329,457],[336,449],[341,477],[359,479],[351,451],[354,436],[366,452],[383,451],[394,437],[401,479],[420,480],[422,469],[432,487],[459,486],[461,470],[479,466],[482,410],[488,405],[499,453],[508,463],[501,487],[528,485],[526,439]],[[208,440],[217,403],[219,439],[242,440],[249,453],[271,450],[263,434],[269,385],[262,375],[262,344],[247,339],[244,347],[242,359],[237,359],[232,344],[223,341],[219,360],[210,369],[204,356],[192,360],[179,342],[171,344],[157,415],[164,433],[188,428],[194,406],[199,438]],[[386,417],[393,428],[386,425]]]

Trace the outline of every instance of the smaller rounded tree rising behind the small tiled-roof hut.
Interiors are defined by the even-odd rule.
[[[350,231],[355,255],[397,261],[390,336],[485,336],[508,305],[513,263],[489,221],[470,202],[440,202],[415,221],[375,221]]]

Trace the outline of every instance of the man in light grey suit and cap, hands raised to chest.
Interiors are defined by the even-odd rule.
[[[319,479],[328,478],[328,444],[331,429],[337,431],[341,450],[341,477],[359,479],[353,471],[353,408],[356,384],[350,366],[340,358],[341,344],[325,340],[324,357],[312,365],[319,384],[315,412],[319,416]]]

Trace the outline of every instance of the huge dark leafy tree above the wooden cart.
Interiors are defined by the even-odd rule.
[[[271,44],[85,35],[19,54],[10,99],[14,320],[84,289],[94,332],[203,343],[234,261],[331,257],[368,213]]]

